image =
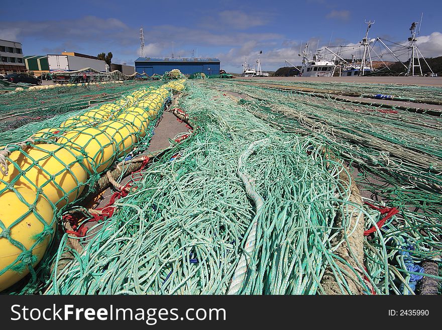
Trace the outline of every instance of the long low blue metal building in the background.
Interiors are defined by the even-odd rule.
[[[172,58],[172,57],[140,57],[135,60],[135,71],[164,74],[166,71],[178,69],[183,74],[203,72],[206,75],[219,74],[219,59],[217,58]]]

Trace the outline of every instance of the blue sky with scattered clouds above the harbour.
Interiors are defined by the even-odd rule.
[[[139,56],[139,29],[147,56],[218,57],[222,68],[240,72],[244,57],[275,70],[287,59],[299,64],[301,42],[316,47],[357,43],[364,20],[376,23],[370,37],[404,42],[411,22],[423,23],[419,47],[425,56],[442,55],[439,1],[53,1],[15,0],[2,4],[0,39],[22,42],[25,55],[63,50],[96,55],[112,51],[113,62],[133,65]],[[421,6],[417,8],[416,4]],[[6,20],[5,20],[6,18]],[[14,18],[14,19],[13,19]]]

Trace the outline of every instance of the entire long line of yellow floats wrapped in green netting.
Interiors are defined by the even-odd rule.
[[[27,275],[42,259],[54,230],[54,213],[75,200],[91,175],[131,152],[161,111],[170,89],[137,89],[113,103],[88,109],[59,128],[37,132],[35,144],[9,156],[0,173],[0,291]]]

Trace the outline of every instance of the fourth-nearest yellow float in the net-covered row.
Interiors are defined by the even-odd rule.
[[[127,155],[138,142],[136,134],[138,128],[132,123],[122,120],[107,121],[101,123],[97,129],[106,132],[114,139],[117,144],[117,150],[119,150],[118,157]]]

